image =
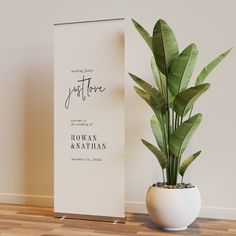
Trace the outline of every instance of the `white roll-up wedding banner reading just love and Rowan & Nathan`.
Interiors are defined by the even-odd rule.
[[[54,213],[124,221],[124,19],[54,25]]]

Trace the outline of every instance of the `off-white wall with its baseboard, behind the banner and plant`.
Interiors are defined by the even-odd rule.
[[[53,199],[53,24],[125,16],[126,70],[152,81],[150,52],[134,30],[165,19],[180,49],[198,45],[196,71],[236,45],[235,1],[1,0],[0,201],[51,205]],[[199,186],[201,216],[236,219],[236,51],[211,73],[210,91],[196,110],[201,127],[190,150],[202,149],[187,180]],[[126,73],[127,74],[127,73]],[[145,193],[160,177],[155,158],[140,142],[153,140],[152,112],[126,76],[126,209],[145,211]],[[79,186],[78,186],[79,188]]]

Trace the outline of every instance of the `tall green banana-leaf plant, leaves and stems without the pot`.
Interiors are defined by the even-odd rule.
[[[135,20],[132,22],[151,50],[151,69],[156,86],[129,73],[137,83],[137,94],[151,107],[154,115],[151,128],[156,145],[142,139],[155,155],[162,169],[163,183],[181,183],[186,169],[200,155],[197,151],[182,160],[184,151],[202,120],[202,114],[192,114],[197,99],[209,89],[207,75],[227,56],[229,50],[216,57],[202,69],[189,86],[196,64],[198,50],[194,43],[179,52],[177,40],[170,26],[162,19],[154,26],[152,35]]]

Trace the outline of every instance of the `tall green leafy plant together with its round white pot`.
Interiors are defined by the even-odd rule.
[[[190,86],[197,46],[192,43],[179,53],[175,35],[164,20],[157,21],[152,36],[132,21],[151,49],[151,68],[156,82],[154,87],[130,73],[139,85],[134,86],[135,91],[154,112],[151,128],[157,146],[144,139],[142,142],[157,158],[163,176],[162,182],[153,184],[147,191],[146,206],[159,227],[183,230],[196,219],[201,207],[198,188],[183,181],[185,171],[201,153],[197,151],[187,158],[183,155],[202,119],[201,113],[193,114],[193,106],[210,87],[205,83],[207,75],[230,50],[203,68]]]

